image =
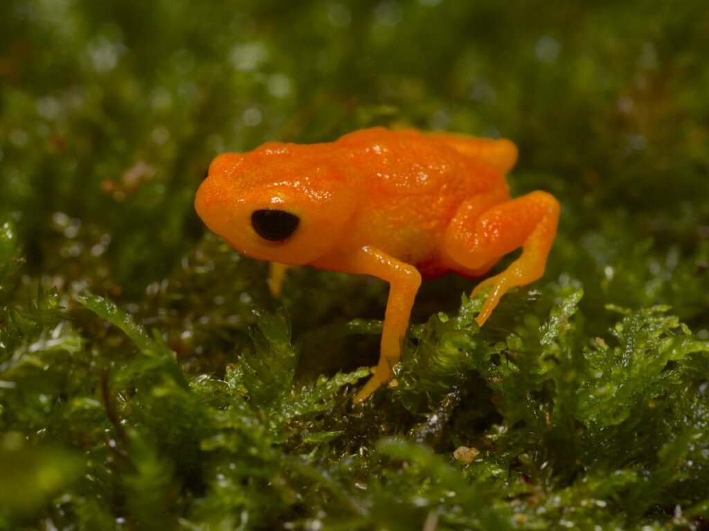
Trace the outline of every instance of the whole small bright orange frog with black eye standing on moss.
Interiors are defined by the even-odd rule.
[[[482,325],[508,289],[544,273],[559,203],[543,191],[510,199],[503,174],[516,160],[509,140],[415,130],[269,142],[216,157],[195,208],[244,255],[389,282],[379,364],[354,398],[362,401],[391,379],[422,277],[481,276],[521,246],[508,269],[473,291],[492,288],[476,317]],[[279,272],[272,267],[272,278]]]

